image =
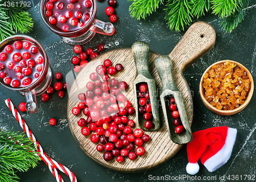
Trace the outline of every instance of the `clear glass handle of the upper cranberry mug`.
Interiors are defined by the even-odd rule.
[[[94,23],[89,29],[92,32],[96,32],[98,34],[103,35],[113,35],[115,34],[114,25],[110,22],[103,22],[101,20],[95,19]]]

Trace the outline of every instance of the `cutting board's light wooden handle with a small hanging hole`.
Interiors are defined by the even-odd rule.
[[[214,47],[215,39],[214,28],[207,22],[198,21],[189,27],[168,56],[176,65],[182,65],[184,71]]]

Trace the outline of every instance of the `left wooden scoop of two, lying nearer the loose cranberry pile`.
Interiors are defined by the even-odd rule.
[[[136,78],[133,82],[133,91],[135,97],[135,110],[136,118],[139,126],[145,131],[156,131],[160,128],[160,119],[158,111],[158,99],[157,99],[157,89],[156,82],[152,75],[150,74],[150,69],[148,68],[148,58],[150,55],[150,48],[146,42],[135,42],[132,45],[132,53],[136,65]],[[139,85],[141,83],[146,83],[148,86],[148,92],[150,93],[150,103],[152,108],[152,119],[154,127],[152,129],[146,129],[144,126],[145,120],[142,114],[138,112],[138,101],[137,93],[139,92]]]

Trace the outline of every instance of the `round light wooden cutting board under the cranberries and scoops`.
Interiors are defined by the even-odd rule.
[[[177,88],[182,92],[190,125],[193,118],[193,100],[188,84],[182,73],[185,68],[204,56],[214,46],[215,39],[216,33],[210,24],[206,22],[196,22],[190,26],[179,43],[173,49],[172,53],[168,55],[173,62],[174,80]],[[156,86],[159,89],[158,93],[161,93],[162,86],[160,78],[154,65],[154,60],[158,56],[160,55],[150,51],[149,67],[151,74],[156,81]],[[163,164],[172,158],[179,151],[182,145],[175,144],[170,140],[161,107],[159,107],[161,127],[155,132],[144,132],[144,134],[151,137],[151,140],[142,145],[145,148],[145,154],[138,156],[134,161],[131,161],[130,159],[125,159],[123,163],[118,163],[115,159],[109,162],[104,161],[103,152],[98,152],[96,150],[96,145],[98,143],[95,144],[90,141],[92,133],[89,136],[83,136],[81,134],[81,127],[77,125],[77,120],[79,118],[86,119],[86,116],[84,116],[82,112],[79,115],[74,116],[71,110],[73,107],[76,107],[79,102],[77,95],[87,91],[86,84],[90,82],[89,75],[92,72],[95,72],[95,68],[98,65],[103,64],[105,59],[110,59],[112,61],[112,65],[116,65],[117,63],[121,63],[123,65],[123,70],[114,76],[110,76],[110,79],[116,77],[119,80],[125,81],[129,85],[125,90],[124,95],[132,102],[132,106],[135,106],[132,83],[136,76],[136,68],[132,49],[117,48],[99,55],[79,72],[70,89],[68,100],[68,120],[71,132],[76,142],[94,161],[115,171],[141,172]],[[127,117],[136,122],[135,115],[127,115]],[[136,123],[133,130],[137,127],[139,126]]]

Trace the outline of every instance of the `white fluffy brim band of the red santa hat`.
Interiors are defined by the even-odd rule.
[[[228,127],[227,137],[223,147],[215,155],[204,162],[204,166],[209,172],[215,171],[229,160],[236,138],[237,129]]]

